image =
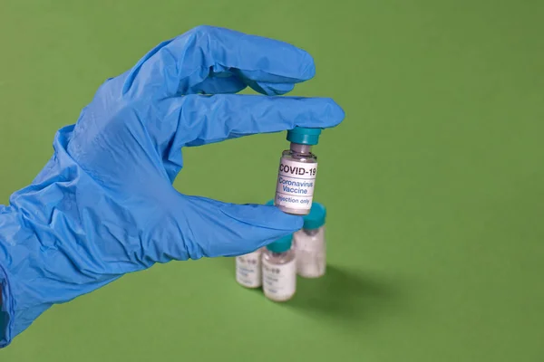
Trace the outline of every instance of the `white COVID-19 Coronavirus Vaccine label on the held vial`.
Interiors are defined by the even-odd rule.
[[[304,163],[282,158],[277,175],[277,206],[295,211],[309,211],[312,208],[316,185],[317,163]]]

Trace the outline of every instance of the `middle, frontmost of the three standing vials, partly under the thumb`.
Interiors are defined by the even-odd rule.
[[[296,291],[296,254],[293,234],[267,246],[263,252],[263,291],[269,300],[287,301]]]

